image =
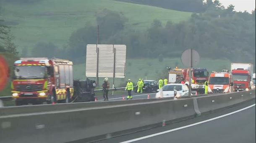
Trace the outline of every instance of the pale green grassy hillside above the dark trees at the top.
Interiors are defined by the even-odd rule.
[[[39,41],[52,42],[59,47],[67,44],[73,31],[87,22],[95,24],[95,15],[104,8],[122,13],[127,27],[144,29],[154,19],[162,23],[179,22],[191,13],[167,10],[147,5],[114,0],[41,0],[37,3],[2,3],[5,23],[12,26],[18,51],[31,48]]]

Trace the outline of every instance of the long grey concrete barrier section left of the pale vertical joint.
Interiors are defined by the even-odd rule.
[[[182,99],[4,115],[0,138],[4,143],[63,143],[194,114],[193,100]]]

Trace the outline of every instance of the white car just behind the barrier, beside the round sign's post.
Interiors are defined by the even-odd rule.
[[[188,96],[188,87],[186,84],[166,84],[162,87],[162,90],[163,97],[174,97],[175,92],[177,98]],[[156,98],[158,97],[161,97],[160,91],[156,94]]]

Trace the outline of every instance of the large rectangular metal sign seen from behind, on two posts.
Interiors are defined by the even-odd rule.
[[[125,77],[125,45],[92,45],[86,47],[86,77]]]

